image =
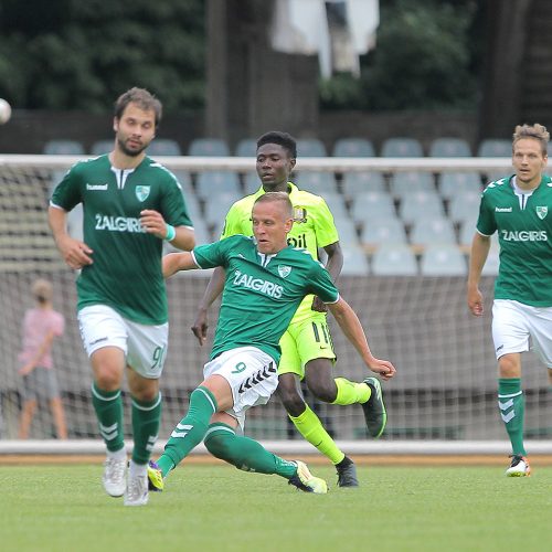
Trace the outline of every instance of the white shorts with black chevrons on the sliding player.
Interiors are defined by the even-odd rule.
[[[208,362],[203,367],[206,380],[222,375],[232,389],[234,406],[226,413],[237,420],[242,431],[245,412],[252,406],[266,404],[278,386],[277,363],[256,347],[238,347]]]

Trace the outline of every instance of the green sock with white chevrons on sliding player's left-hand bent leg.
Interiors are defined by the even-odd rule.
[[[177,424],[157,460],[163,477],[203,440],[211,416],[217,410],[216,400],[206,388],[199,386],[192,392],[188,414]]]

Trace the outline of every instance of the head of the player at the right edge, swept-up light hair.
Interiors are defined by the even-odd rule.
[[[512,140],[512,164],[516,178],[521,183],[538,185],[548,162],[548,142],[550,134],[546,127],[518,125]]]

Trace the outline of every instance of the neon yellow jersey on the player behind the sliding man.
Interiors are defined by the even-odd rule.
[[[318,248],[339,242],[338,231],[328,204],[320,195],[299,190],[288,182],[289,199],[295,210],[295,222],[289,232],[287,243],[294,247],[307,250],[312,258],[318,259]],[[221,240],[235,234],[253,235],[251,212],[255,200],[265,193],[261,187],[255,193],[236,201],[226,213]],[[291,323],[302,321],[312,316],[312,300],[308,295],[301,301]]]

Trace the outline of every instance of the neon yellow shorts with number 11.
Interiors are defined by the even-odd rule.
[[[294,373],[302,380],[305,364],[314,359],[336,361],[330,329],[323,312],[315,312],[307,320],[289,325],[282,339],[282,359],[278,374]]]

